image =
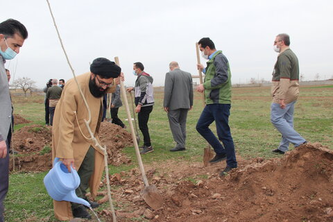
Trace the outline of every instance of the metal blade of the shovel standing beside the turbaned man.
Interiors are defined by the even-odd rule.
[[[158,210],[163,205],[163,198],[160,193],[157,191],[155,185],[149,185],[144,187],[144,190],[141,191],[141,196],[153,210]]]

